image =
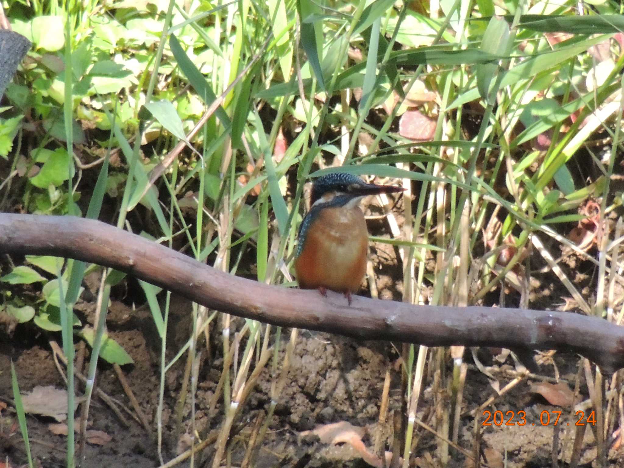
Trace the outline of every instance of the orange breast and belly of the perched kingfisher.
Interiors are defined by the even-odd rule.
[[[324,208],[306,234],[295,271],[300,288],[355,293],[366,274],[368,230],[358,207]]]

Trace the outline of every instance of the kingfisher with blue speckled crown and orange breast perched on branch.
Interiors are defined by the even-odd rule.
[[[314,180],[310,211],[299,227],[295,272],[302,289],[351,294],[366,274],[368,230],[359,202],[368,195],[405,190],[366,183],[356,175],[333,172]]]

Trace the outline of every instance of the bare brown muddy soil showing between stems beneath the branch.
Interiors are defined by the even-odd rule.
[[[375,255],[384,256],[386,254],[383,251],[376,251]],[[582,263],[575,265],[575,268],[580,275],[584,275],[583,278],[591,277],[593,267]],[[552,273],[537,275],[537,279],[545,280],[549,274]],[[97,284],[97,278],[90,278],[90,280],[92,284]],[[386,296],[386,298],[398,299],[400,297],[397,297],[399,291],[392,287],[393,284],[391,279],[386,278],[381,295]],[[561,308],[562,297],[565,294],[558,293],[552,286],[553,284],[553,282],[542,281],[540,285],[546,286],[534,288],[532,304],[539,304],[542,308],[547,308],[548,305],[552,309]],[[131,283],[130,288],[132,288]],[[152,432],[155,432],[154,416],[158,401],[160,340],[152,323],[150,312],[146,308],[132,310],[132,307],[124,303],[124,300],[128,302],[127,291],[120,293],[119,296],[110,308],[107,321],[109,333],[124,346],[134,359],[134,364],[124,366],[124,373],[140,407],[152,424]],[[82,301],[77,306],[77,314],[83,321],[92,320],[95,307],[95,295],[87,294],[87,297],[90,301]],[[510,305],[509,302],[515,299],[517,299],[516,295],[510,292],[507,306]],[[172,304],[167,359],[175,356],[178,349],[183,346],[190,327],[190,304],[180,298],[173,298]],[[536,305],[534,307],[537,308]],[[492,310],[492,313],[495,313],[495,309]],[[242,323],[241,319],[233,319],[235,328],[240,329]],[[290,330],[284,330],[282,353],[289,338]],[[11,466],[25,464],[26,456],[19,429],[14,424],[16,417],[12,412],[10,402],[12,390],[9,359],[12,358],[16,364],[22,393],[30,391],[35,386],[49,385],[63,388],[64,383],[54,364],[49,340],[60,341],[60,336],[59,334],[45,333],[32,323],[17,326],[12,337],[8,336],[4,330],[0,331],[0,402],[8,403],[7,408],[0,413],[2,416],[0,459],[9,460]],[[214,326],[211,325],[209,343],[208,348],[205,346],[203,348],[195,405],[197,429],[200,434],[205,430],[214,431],[218,429],[223,421],[221,402],[213,414],[208,412],[208,402],[217,387],[223,365],[220,320],[215,321]],[[341,421],[349,422],[353,426],[361,428],[359,436],[361,436],[364,446],[369,449],[372,450],[377,437],[382,437],[386,449],[391,450],[392,416],[395,412],[401,411],[401,371],[400,361],[398,361],[401,346],[401,344],[394,346],[392,343],[356,341],[326,333],[300,331],[290,373],[275,414],[270,421],[265,441],[258,454],[257,466],[297,468],[370,466],[363,461],[361,454],[354,449],[352,444],[325,444],[319,441],[316,436],[301,436],[302,432],[311,431],[319,425]],[[514,362],[511,358],[507,358],[504,363],[495,359],[495,355],[499,351],[481,349],[477,351],[477,356],[484,366],[490,366],[490,372],[497,379],[499,388],[503,388],[517,374],[515,374]],[[437,351],[432,350],[431,353],[437,353]],[[447,363],[445,371],[452,373],[452,361],[448,351],[444,354],[444,358]],[[471,452],[475,446],[475,417],[470,414],[470,411],[477,409],[490,396],[495,396],[495,391],[490,384],[490,379],[474,365],[470,351],[466,352],[464,359],[469,364],[469,368],[464,388],[459,446],[465,451]],[[579,363],[580,358],[578,356],[556,353],[553,354],[552,358],[545,359],[545,364],[539,366],[540,375],[550,378],[551,381],[558,375],[558,378],[567,383],[572,390],[577,381],[577,376],[580,376],[579,398],[587,399],[587,385],[584,376],[582,373],[578,374]],[[270,368],[270,366],[268,367]],[[386,421],[380,426],[378,423],[379,407],[387,369],[391,369],[389,411]],[[165,409],[163,411],[165,461],[175,456],[176,452],[180,450],[178,441],[173,439],[175,429],[172,415],[182,385],[183,373],[184,363],[181,359],[172,366],[166,378]],[[451,404],[448,394],[438,394],[437,396],[434,394],[437,390],[432,386],[432,381],[434,381],[432,378],[427,381],[426,388],[422,392],[418,413],[423,421],[430,422],[434,416],[436,402],[446,399],[448,404]],[[572,415],[569,406],[560,407],[549,404],[547,399],[532,391],[534,385],[539,382],[540,379],[536,378],[525,379],[509,392],[506,392],[504,396],[497,397],[494,404],[487,408],[492,413],[502,411],[502,414],[507,415],[506,421],[509,420],[509,416],[512,416],[515,422],[519,422],[520,411],[524,411],[527,423],[525,426],[518,424],[513,426],[497,426],[496,424],[483,426],[484,415],[480,415],[480,422],[477,424],[480,429],[481,449],[489,462],[489,466],[507,466],[509,468],[552,466],[552,444],[555,428],[552,421],[546,425],[543,423],[545,422],[544,412],[547,416],[552,416],[553,411],[562,411],[560,432],[558,433],[560,447],[558,458],[560,459],[559,466],[568,466],[565,461],[569,460],[575,430],[574,423],[577,419]],[[111,366],[102,364],[97,383],[99,388],[109,396],[114,397],[125,406],[130,406],[129,399]],[[230,444],[232,466],[240,466],[241,460],[245,456],[246,446],[256,417],[266,414],[271,401],[270,387],[271,374],[265,370],[243,409],[240,422],[235,426],[235,436],[233,436]],[[77,393],[82,394],[82,390],[80,385]],[[87,444],[82,466],[94,468],[160,466],[153,433],[148,433],[138,422],[130,418],[129,427],[125,427],[110,408],[97,397],[94,399],[91,415],[92,429],[104,431],[111,437],[111,440],[103,445]],[[542,416],[541,422],[540,416]],[[39,466],[46,468],[65,466],[66,438],[51,433],[48,429],[51,422],[56,421],[50,417],[27,417],[32,452]],[[183,424],[185,424],[184,429],[189,431],[189,402],[185,405]],[[618,424],[615,425],[614,430],[617,427]],[[439,439],[422,427],[417,427],[415,434],[417,444],[411,466],[422,468],[441,466],[437,455]],[[596,456],[596,451],[593,437],[593,432],[587,430],[580,465],[582,467],[594,466],[592,461]],[[184,437],[181,440],[183,441]],[[461,452],[451,449],[450,453],[451,461],[447,466],[462,468],[472,466]],[[211,454],[211,451],[207,452],[208,458]],[[505,457],[506,465],[504,464]],[[195,463],[198,466],[198,461]],[[624,451],[612,449],[609,455],[609,463],[612,467],[623,467]],[[182,462],[179,466],[188,466],[188,461]]]

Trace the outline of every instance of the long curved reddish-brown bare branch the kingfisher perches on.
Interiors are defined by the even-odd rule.
[[[603,371],[624,367],[624,327],[573,313],[414,306],[267,286],[98,221],[0,213],[0,253],[56,255],[110,266],[209,308],[285,327],[427,346],[558,349]]]

